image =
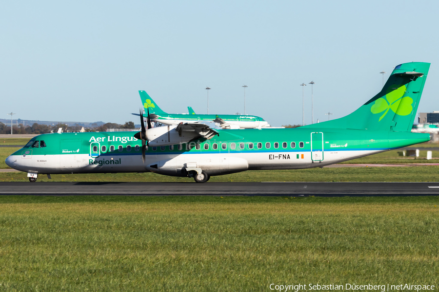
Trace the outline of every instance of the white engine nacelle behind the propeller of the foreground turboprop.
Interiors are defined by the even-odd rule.
[[[181,136],[175,129],[177,125],[150,128],[146,130],[146,139],[149,146],[167,146],[180,143],[188,143],[192,139],[200,137],[196,132],[182,131]]]

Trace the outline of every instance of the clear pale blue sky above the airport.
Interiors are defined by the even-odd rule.
[[[439,110],[439,2],[2,1],[0,118],[139,117],[139,90],[168,113],[244,113],[274,127],[345,116],[382,74],[430,62],[418,112]],[[307,86],[302,87],[300,84]]]

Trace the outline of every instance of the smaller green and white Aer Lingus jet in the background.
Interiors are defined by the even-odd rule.
[[[209,121],[218,123],[223,129],[247,129],[247,128],[265,128],[270,127],[268,122],[258,116],[237,115],[237,114],[196,114],[191,107],[188,107],[188,114],[166,113],[160,109],[157,103],[146,93],[139,91],[143,107],[149,109],[150,117],[153,122],[163,125],[178,125],[180,123],[200,123],[200,121]],[[138,115],[137,113],[133,113]]]

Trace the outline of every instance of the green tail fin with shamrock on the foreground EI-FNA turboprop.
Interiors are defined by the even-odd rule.
[[[423,62],[396,66],[377,95],[345,117],[319,123],[319,128],[410,132],[429,69],[430,63]]]

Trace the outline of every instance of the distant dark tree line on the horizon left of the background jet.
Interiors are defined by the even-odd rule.
[[[18,127],[15,125],[12,127],[12,133],[13,134],[46,134],[51,132],[56,133],[59,128],[62,128],[63,132],[79,132],[82,129],[82,126],[79,126],[78,124],[75,124],[73,126],[68,126],[65,124],[48,126],[48,125],[40,125],[35,123],[32,126],[24,127],[23,124],[19,124]],[[87,127],[87,128],[84,127],[84,130],[86,132],[105,132],[107,128],[134,129],[135,126],[133,122],[126,122],[124,125],[106,123],[101,126],[98,126],[97,124],[92,124],[91,127]],[[0,122],[0,134],[10,134],[10,133],[11,133],[11,126],[6,126],[5,124]]]

